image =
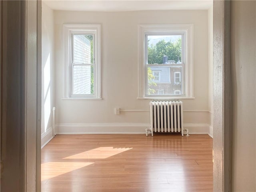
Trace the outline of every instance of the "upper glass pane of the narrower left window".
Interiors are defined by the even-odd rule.
[[[73,35],[74,63],[93,64],[93,35]]]

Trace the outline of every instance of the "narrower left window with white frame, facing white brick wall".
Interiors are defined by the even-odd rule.
[[[100,25],[64,25],[65,98],[100,99]]]

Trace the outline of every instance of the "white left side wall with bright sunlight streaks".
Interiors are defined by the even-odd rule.
[[[54,12],[42,2],[42,146],[52,138],[54,106]]]

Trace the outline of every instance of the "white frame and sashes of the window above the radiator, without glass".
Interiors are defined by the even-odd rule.
[[[147,36],[182,35],[182,95],[149,95],[147,92]],[[193,24],[138,25],[138,99],[185,99],[194,98],[193,92]],[[180,64],[158,64],[158,66],[180,66]]]

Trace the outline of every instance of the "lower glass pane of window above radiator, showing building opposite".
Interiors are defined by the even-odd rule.
[[[148,95],[182,94],[182,66],[148,67]]]

